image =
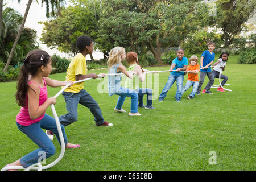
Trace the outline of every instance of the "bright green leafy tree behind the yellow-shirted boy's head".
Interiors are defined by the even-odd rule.
[[[59,51],[75,56],[78,52],[76,39],[79,36],[88,35],[93,40],[97,39],[99,18],[95,9],[99,6],[100,3],[97,1],[80,1],[76,6],[63,9],[63,14],[56,19],[40,22],[44,24],[40,40],[47,47],[57,48]]]

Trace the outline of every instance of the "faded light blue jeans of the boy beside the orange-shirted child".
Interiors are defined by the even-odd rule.
[[[181,90],[182,90],[182,86],[183,86],[183,80],[184,80],[184,75],[173,75],[170,74],[170,76],[168,77],[167,83],[164,86],[162,93],[159,96],[159,100],[163,100],[164,97],[166,97],[167,92],[171,89],[172,85],[174,84],[174,82],[177,82],[177,91],[175,94],[175,98],[180,98],[181,97]]]

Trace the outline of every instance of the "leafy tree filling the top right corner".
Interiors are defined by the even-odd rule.
[[[234,36],[245,29],[245,22],[254,14],[256,1],[218,0],[217,28],[223,31],[224,46],[232,44]]]

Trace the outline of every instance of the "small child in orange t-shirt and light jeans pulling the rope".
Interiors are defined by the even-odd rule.
[[[197,64],[197,62],[198,57],[195,55],[191,56],[191,58],[189,59],[190,64],[187,70],[185,71],[185,73],[188,73],[188,80],[181,90],[181,96],[185,91],[187,91],[191,86],[193,86],[192,92],[187,97],[188,99],[192,99],[193,97],[195,97],[196,90],[199,85],[198,72],[200,71],[200,65]]]

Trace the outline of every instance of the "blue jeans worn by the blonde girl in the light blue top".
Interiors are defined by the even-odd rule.
[[[131,97],[131,113],[138,112],[138,93],[135,90],[127,89],[127,88],[120,88],[117,94],[117,106],[115,108],[122,109],[123,102],[125,102],[126,97]]]

